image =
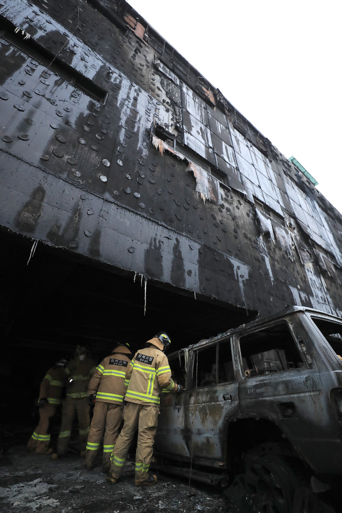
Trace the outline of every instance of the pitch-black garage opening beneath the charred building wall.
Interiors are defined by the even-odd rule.
[[[133,351],[159,330],[177,350],[254,319],[245,309],[206,302],[193,293],[147,281],[133,272],[99,268],[64,249],[2,234],[1,407],[7,422],[34,428],[39,385],[46,371],[86,345],[98,364],[116,343]]]

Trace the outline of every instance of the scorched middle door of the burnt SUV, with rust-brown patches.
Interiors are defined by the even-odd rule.
[[[225,426],[238,412],[230,338],[192,352],[192,379],[188,381],[184,411],[189,453],[195,459],[211,460],[210,465],[222,465]]]

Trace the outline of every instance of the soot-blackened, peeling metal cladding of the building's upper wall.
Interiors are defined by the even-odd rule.
[[[260,314],[341,316],[342,216],[126,2],[0,0],[0,20],[3,227]]]

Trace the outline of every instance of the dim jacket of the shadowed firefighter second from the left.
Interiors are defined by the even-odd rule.
[[[67,396],[74,399],[87,397],[89,380],[94,370],[95,364],[88,356],[83,361],[77,355],[70,360],[64,374],[64,377],[72,378],[72,383],[67,387]]]

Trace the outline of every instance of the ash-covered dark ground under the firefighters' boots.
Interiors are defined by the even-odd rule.
[[[220,513],[227,511],[222,491],[203,484],[178,480],[158,472],[152,487],[134,486],[134,461],[126,464],[123,478],[109,484],[101,460],[91,471],[84,459],[70,455],[51,460],[25,446],[14,446],[0,457],[0,511],[2,513],[121,513],[155,511]]]

